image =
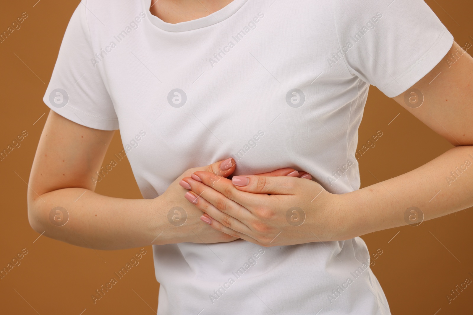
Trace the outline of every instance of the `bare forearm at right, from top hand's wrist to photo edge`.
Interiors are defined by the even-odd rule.
[[[473,147],[456,146],[415,170],[340,198],[353,237],[466,209],[473,206]]]

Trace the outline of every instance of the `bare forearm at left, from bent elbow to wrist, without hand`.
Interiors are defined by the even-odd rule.
[[[63,188],[29,201],[28,218],[36,232],[50,238],[94,249],[125,249],[148,246],[156,237],[153,233],[163,221],[158,220],[156,204],[154,199],[122,199],[84,188]]]

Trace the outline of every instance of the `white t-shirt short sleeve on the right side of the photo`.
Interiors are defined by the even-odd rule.
[[[388,97],[424,77],[453,45],[423,0],[335,0],[334,20],[339,58]]]

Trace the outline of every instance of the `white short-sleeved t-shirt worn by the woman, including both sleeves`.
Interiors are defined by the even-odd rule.
[[[44,94],[76,123],[120,129],[144,198],[230,156],[235,175],[292,167],[331,193],[359,189],[369,85],[401,94],[453,43],[422,0],[234,0],[178,24],[149,7],[82,1]],[[153,245],[153,254],[159,315],[390,314],[359,237]]]

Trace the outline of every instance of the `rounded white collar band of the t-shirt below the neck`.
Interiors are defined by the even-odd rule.
[[[248,0],[233,0],[227,6],[206,17],[176,24],[164,22],[159,17],[152,15],[149,11],[151,0],[141,0],[141,3],[144,7],[146,16],[155,26],[167,32],[186,32],[220,23],[235,14],[236,11],[238,11],[247,1]]]

